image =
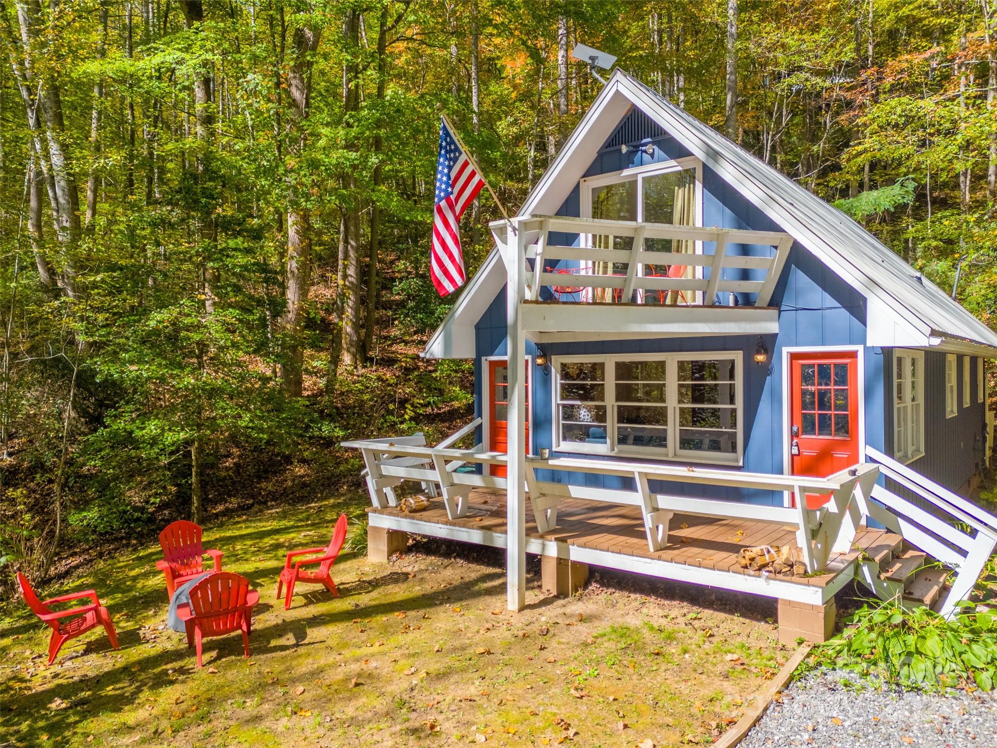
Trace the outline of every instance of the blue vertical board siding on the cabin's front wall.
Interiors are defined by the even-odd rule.
[[[636,130],[643,142],[653,142],[654,156],[640,151],[621,154],[618,135],[623,128],[631,127],[632,118],[642,116],[631,112],[616,133],[607,141],[586,176],[596,176],[617,172],[634,166],[655,162],[671,161],[690,156],[689,152],[675,140],[660,131],[654,123],[644,123],[644,130]],[[646,119],[646,118],[645,118]],[[639,124],[639,123],[638,123]],[[656,130],[655,130],[656,129]],[[750,228],[755,230],[778,231],[776,225],[759,208],[750,203],[734,187],[730,187],[709,168],[703,169],[703,217],[704,225],[724,228]],[[580,214],[579,188],[575,186],[564,200],[558,215],[578,216]],[[554,238],[565,241],[569,237]],[[566,243],[566,242],[565,242]],[[709,252],[710,247],[707,247]],[[770,247],[752,245],[728,245],[727,252],[755,254],[765,252],[769,256]],[[752,271],[745,271],[752,272]],[[757,271],[753,271],[757,272]],[[752,277],[746,275],[746,278]],[[476,373],[476,415],[482,414],[484,382],[482,358],[505,354],[505,298],[504,289],[498,293],[489,309],[478,322]],[[768,364],[756,364],[752,360],[757,344],[757,336],[689,337],[653,340],[599,341],[588,343],[557,343],[544,346],[549,357],[568,354],[598,353],[654,353],[654,352],[693,352],[693,351],[741,351],[744,365],[742,419],[744,421],[744,470],[756,473],[786,472],[784,464],[783,427],[783,386],[785,372],[782,369],[785,347],[831,347],[855,346],[865,343],[864,299],[834,274],[823,262],[807,249],[794,244],[783,274],[776,286],[771,301],[780,307],[780,332],[765,336],[765,344],[770,352]],[[535,346],[527,341],[527,354],[535,353]],[[866,349],[864,355],[865,387],[865,441],[883,449],[884,447],[884,370],[883,355],[879,349]],[[551,377],[543,374],[535,365],[530,367],[531,402],[530,433],[533,449],[552,447],[553,423],[551,405]],[[567,454],[567,453],[557,453]],[[586,457],[591,457],[586,455]],[[675,461],[683,464],[682,461]],[[704,466],[709,467],[709,466]],[[724,467],[724,466],[718,466]],[[632,488],[632,481],[613,476],[579,476],[578,474],[547,474],[541,480],[585,480],[589,485],[604,488]],[[655,491],[675,495],[695,495],[706,498],[731,501],[750,501],[760,504],[782,505],[783,495],[773,492],[748,491],[742,489],[707,490],[687,484],[659,483]]]

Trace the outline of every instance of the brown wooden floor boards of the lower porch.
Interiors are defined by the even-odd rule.
[[[371,513],[405,517],[442,526],[463,527],[505,533],[505,493],[492,489],[475,489],[468,497],[468,516],[451,520],[443,500],[433,499],[430,508],[413,515],[399,509],[371,509]],[[796,546],[796,531],[777,523],[752,520],[698,517],[676,514],[669,523],[668,543],[661,551],[651,551],[647,544],[644,521],[637,507],[580,499],[563,499],[557,507],[557,526],[540,534],[526,502],[526,536],[556,541],[568,546],[604,551],[623,556],[671,561],[691,566],[717,569],[735,574],[761,576],[762,572],[741,568],[738,555],[749,546]],[[863,528],[855,539],[860,549],[875,547],[885,531]],[[836,572],[847,566],[855,553],[832,554],[828,573],[813,576],[779,576],[783,581],[825,586]]]

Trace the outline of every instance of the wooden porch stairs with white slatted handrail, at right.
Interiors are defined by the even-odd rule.
[[[908,607],[951,614],[994,553],[997,517],[878,450],[868,447],[866,456],[885,486],[873,487],[859,509],[890,533],[864,551],[856,576],[881,599],[899,595]]]

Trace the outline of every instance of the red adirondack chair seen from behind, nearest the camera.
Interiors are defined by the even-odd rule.
[[[187,646],[197,650],[197,667],[201,667],[201,641],[242,631],[242,647],[249,656],[249,633],[252,608],[259,602],[259,592],[249,588],[249,579],[231,571],[205,576],[190,587],[190,602],[176,606],[176,615],[186,625]]]

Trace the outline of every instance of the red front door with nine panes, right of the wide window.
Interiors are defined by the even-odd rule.
[[[857,463],[857,354],[792,353],[789,386],[793,475],[825,478]],[[808,495],[807,507],[821,507],[830,498]]]

